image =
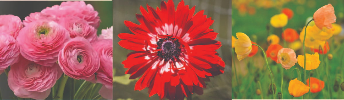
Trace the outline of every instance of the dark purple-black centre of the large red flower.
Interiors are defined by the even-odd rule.
[[[180,53],[179,40],[176,38],[167,37],[159,39],[157,45],[157,49],[160,49],[160,51],[158,51],[158,56],[165,59],[165,61],[170,59],[173,61]]]

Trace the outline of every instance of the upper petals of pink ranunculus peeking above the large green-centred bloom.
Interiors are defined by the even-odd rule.
[[[49,21],[55,21],[55,22],[58,21],[58,19],[55,15],[35,12],[35,13],[31,13],[29,16],[25,17],[25,20],[23,20],[23,25],[27,26],[29,23],[31,23],[33,21],[37,21],[37,20],[49,20]]]

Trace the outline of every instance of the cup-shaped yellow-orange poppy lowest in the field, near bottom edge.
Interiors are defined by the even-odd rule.
[[[309,92],[309,87],[298,80],[298,78],[295,78],[290,80],[288,90],[290,95],[300,97]]]

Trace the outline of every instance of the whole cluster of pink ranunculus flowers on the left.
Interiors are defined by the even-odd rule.
[[[10,66],[15,96],[45,99],[64,73],[103,84],[99,94],[112,99],[112,26],[97,36],[100,17],[92,5],[67,1],[23,21],[0,15],[0,23],[0,72]]]

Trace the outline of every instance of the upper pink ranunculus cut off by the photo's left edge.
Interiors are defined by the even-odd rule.
[[[16,39],[21,28],[23,28],[23,23],[18,16],[0,15],[0,32]]]

